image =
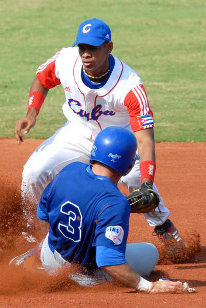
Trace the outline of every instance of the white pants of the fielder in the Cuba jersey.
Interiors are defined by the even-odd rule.
[[[23,198],[38,203],[46,184],[66,165],[76,161],[89,164],[93,142],[84,137],[70,122],[58,129],[52,137],[35,149],[25,164],[22,181]],[[119,182],[126,185],[130,192],[141,186],[139,161],[136,161],[130,173],[122,177]],[[153,189],[158,192],[155,184]],[[143,214],[150,226],[161,225],[170,215],[161,197],[159,209],[160,211],[156,209],[154,213]]]

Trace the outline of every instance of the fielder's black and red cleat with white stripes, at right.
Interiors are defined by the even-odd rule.
[[[156,226],[153,235],[157,235],[158,239],[163,243],[165,240],[174,239],[184,249],[184,245],[178,230],[170,219],[167,219],[162,225]]]

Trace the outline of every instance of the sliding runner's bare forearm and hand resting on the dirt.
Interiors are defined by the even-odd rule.
[[[128,263],[119,265],[107,265],[101,267],[107,274],[109,274],[116,281],[131,288],[139,287],[140,275],[135,273]],[[146,280],[147,282],[147,280]],[[140,287],[141,289],[141,287]],[[141,290],[140,290],[141,291]],[[143,291],[143,290],[142,290]],[[164,280],[149,282],[147,293],[181,293],[183,286],[179,282]]]

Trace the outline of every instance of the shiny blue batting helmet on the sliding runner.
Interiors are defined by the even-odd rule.
[[[126,176],[136,159],[139,159],[136,150],[137,141],[131,131],[123,127],[110,126],[98,133],[92,147],[90,162],[100,162]]]

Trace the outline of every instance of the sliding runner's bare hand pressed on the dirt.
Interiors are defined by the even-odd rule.
[[[149,293],[182,293],[183,285],[179,281],[156,281]]]

